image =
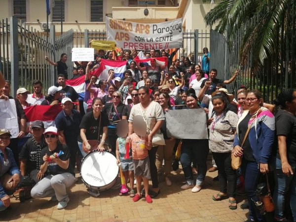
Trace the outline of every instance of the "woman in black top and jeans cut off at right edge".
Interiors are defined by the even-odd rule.
[[[275,161],[275,221],[287,221],[285,216],[286,194],[291,187],[290,207],[296,221],[296,90],[281,92],[274,101],[281,106],[275,115],[278,149]]]

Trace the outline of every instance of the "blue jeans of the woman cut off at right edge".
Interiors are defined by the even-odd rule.
[[[277,219],[285,218],[285,196],[289,187],[291,187],[291,199],[290,207],[292,210],[294,221],[296,221],[296,176],[291,175],[288,177],[283,173],[281,160],[276,158],[276,170],[274,172],[275,177],[275,189],[273,193],[273,201],[275,204],[275,214],[274,217]],[[296,163],[290,164],[293,172],[296,170]]]

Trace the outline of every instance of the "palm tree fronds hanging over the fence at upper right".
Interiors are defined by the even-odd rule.
[[[222,0],[206,14],[205,22],[210,27],[217,24],[215,30],[227,38],[229,49],[237,34],[243,33],[241,65],[251,59],[258,71],[268,62],[283,74],[292,73],[289,82],[295,85],[295,0]]]

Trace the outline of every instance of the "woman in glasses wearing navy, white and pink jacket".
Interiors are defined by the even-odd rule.
[[[257,90],[248,92],[245,99],[249,110],[239,118],[234,137],[233,152],[242,157],[241,170],[245,176],[245,190],[249,201],[249,220],[263,221],[254,202],[259,201],[256,188],[261,174],[269,172],[268,162],[272,159],[272,147],[275,136],[275,118],[263,106],[261,94]],[[246,142],[241,144],[250,128]]]

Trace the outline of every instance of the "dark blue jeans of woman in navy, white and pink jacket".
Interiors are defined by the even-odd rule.
[[[241,170],[245,176],[245,191],[247,192],[249,201],[249,217],[251,220],[261,222],[263,221],[263,217],[254,203],[254,201],[259,201],[259,197],[256,195],[256,188],[261,176],[259,164],[243,158]]]

